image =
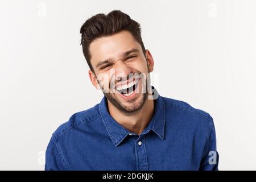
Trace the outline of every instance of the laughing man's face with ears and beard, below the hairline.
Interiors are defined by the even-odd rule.
[[[149,72],[154,61],[150,52],[143,54],[141,45],[129,31],[98,38],[89,47],[94,73],[89,71],[94,86],[125,114],[142,108],[150,86]]]

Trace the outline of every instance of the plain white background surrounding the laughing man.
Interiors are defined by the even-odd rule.
[[[42,170],[53,131],[100,102],[80,27],[122,10],[142,26],[160,95],[210,113],[220,170],[256,169],[256,1],[0,1],[0,169]]]

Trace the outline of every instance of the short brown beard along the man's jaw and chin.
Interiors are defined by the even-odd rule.
[[[115,96],[114,93],[105,93],[104,90],[103,93],[105,97],[123,114],[125,115],[131,115],[134,113],[137,113],[139,110],[142,109],[144,103],[147,100],[148,97],[148,79],[150,77],[146,77],[146,93],[142,92],[138,98],[134,98],[132,100],[127,100],[125,103],[123,103],[118,97]],[[143,83],[142,83],[142,90],[143,90]],[[109,86],[110,89],[110,86]]]

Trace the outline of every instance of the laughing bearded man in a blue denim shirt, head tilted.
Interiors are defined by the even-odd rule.
[[[218,169],[212,117],[150,85],[154,60],[137,22],[115,10],[92,16],[80,33],[104,98],[53,133],[46,170]]]

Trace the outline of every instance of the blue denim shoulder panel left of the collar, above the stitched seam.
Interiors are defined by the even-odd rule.
[[[86,123],[94,122],[96,119],[100,118],[101,115],[98,110],[98,106],[99,104],[91,107],[90,109],[72,114],[67,122],[63,123],[55,130],[53,133],[55,139],[59,139],[63,134],[67,133],[71,129],[85,125]]]

